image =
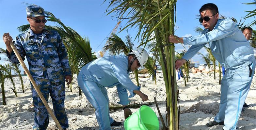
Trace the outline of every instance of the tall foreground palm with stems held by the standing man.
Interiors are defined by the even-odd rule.
[[[169,35],[174,34],[176,0],[110,0],[109,3],[108,8],[112,8],[107,10],[107,15],[115,13],[118,20],[128,19],[122,30],[138,27],[136,38],[141,40],[141,46],[145,47],[148,42],[156,41],[155,48],[160,56],[166,85],[167,127],[177,130],[179,125],[174,44],[168,42]],[[165,127],[164,123],[163,126]]]

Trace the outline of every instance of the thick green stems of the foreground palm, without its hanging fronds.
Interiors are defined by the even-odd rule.
[[[169,130],[178,130],[178,108],[177,108],[177,85],[176,85],[176,73],[175,73],[175,54],[174,54],[174,44],[168,43],[168,36],[170,34],[174,34],[174,4],[176,1],[169,1],[168,7],[172,8],[170,15],[168,16],[168,24],[165,26],[163,23],[161,24],[162,32],[166,32],[168,29],[169,33],[162,35],[164,39],[164,44],[168,44],[165,46],[165,56],[164,60],[165,65],[163,66],[163,73],[165,78],[166,92],[167,92],[167,122]],[[159,0],[157,1],[158,10],[160,11]],[[160,20],[162,19],[161,13],[159,13]],[[160,47],[160,46],[159,46]],[[160,47],[162,48],[162,47]],[[162,50],[162,54],[164,51]],[[161,57],[160,57],[161,58]],[[162,57],[164,58],[164,57]],[[163,65],[163,64],[162,64]],[[166,75],[167,74],[167,75]]]

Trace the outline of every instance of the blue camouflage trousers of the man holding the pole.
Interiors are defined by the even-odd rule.
[[[50,94],[53,101],[54,114],[57,120],[63,129],[68,128],[68,117],[64,108],[65,84],[52,86],[50,88],[41,88],[40,91],[47,102]],[[33,130],[46,130],[49,124],[48,111],[34,87],[32,87],[32,98],[35,110]]]

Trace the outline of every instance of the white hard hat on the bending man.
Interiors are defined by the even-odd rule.
[[[132,52],[134,53],[134,55],[138,59],[141,67],[143,67],[146,64],[146,62],[149,58],[148,52],[145,49],[141,48],[141,47],[133,48]]]

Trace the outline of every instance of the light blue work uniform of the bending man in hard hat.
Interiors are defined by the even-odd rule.
[[[111,130],[114,120],[109,116],[109,99],[105,87],[117,86],[121,105],[128,105],[127,90],[140,90],[129,78],[128,57],[117,55],[95,59],[86,64],[77,77],[78,85],[88,101],[95,108],[95,114],[100,130]]]

